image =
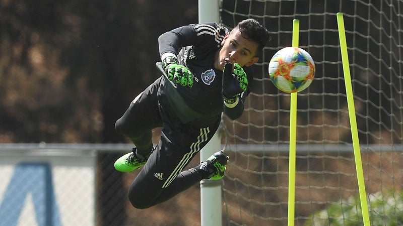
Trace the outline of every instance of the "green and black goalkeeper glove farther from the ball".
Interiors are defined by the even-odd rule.
[[[169,80],[189,88],[193,86],[192,72],[187,67],[180,65],[175,57],[165,58],[162,61],[162,66]]]

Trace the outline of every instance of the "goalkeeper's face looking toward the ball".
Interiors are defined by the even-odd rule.
[[[216,59],[215,67],[224,69],[227,62],[238,63],[241,67],[250,66],[258,61],[255,57],[258,44],[242,37],[239,30],[235,30],[224,38],[224,44]]]

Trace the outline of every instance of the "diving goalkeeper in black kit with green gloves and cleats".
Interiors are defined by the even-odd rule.
[[[158,38],[163,76],[141,92],[116,121],[116,131],[136,148],[116,160],[131,172],[128,198],[136,208],[166,201],[203,179],[221,179],[228,157],[222,151],[182,171],[217,131],[221,114],[242,115],[253,74],[249,66],[269,39],[256,20],[231,32],[215,23],[187,25]],[[152,129],[162,127],[153,147]]]

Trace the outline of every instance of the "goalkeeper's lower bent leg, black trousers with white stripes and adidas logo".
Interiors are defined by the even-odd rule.
[[[183,128],[177,130],[176,126],[171,130],[164,125],[156,150],[129,188],[131,204],[136,208],[148,208],[209,178],[210,172],[200,167],[182,170],[209,142],[218,124],[213,125],[212,131],[203,128],[188,133],[183,133]],[[227,161],[226,157],[224,159]]]

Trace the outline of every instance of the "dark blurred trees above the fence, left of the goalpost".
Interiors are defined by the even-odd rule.
[[[0,143],[123,141],[114,122],[159,76],[158,36],[196,22],[197,1],[2,1]]]

